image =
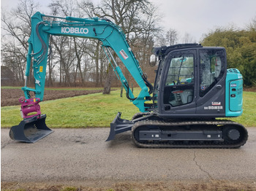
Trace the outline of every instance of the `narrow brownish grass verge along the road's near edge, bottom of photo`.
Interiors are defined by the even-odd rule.
[[[111,182],[101,180],[100,182],[91,183],[67,183],[53,184],[47,182],[2,182],[1,190],[3,191],[141,191],[141,190],[187,190],[187,191],[204,191],[204,190],[225,190],[225,191],[242,191],[242,190],[255,190],[255,181],[229,181],[229,180],[180,180],[180,181],[122,181]]]

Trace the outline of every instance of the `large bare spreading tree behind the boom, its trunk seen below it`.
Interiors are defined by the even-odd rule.
[[[138,44],[138,39],[140,42],[144,39],[147,43],[157,30],[155,8],[146,0],[103,0],[100,6],[94,6],[91,1],[81,1],[80,8],[91,17],[107,17],[113,20],[124,31],[132,46]],[[111,85],[112,73],[108,72],[103,93],[110,93],[110,88],[107,87]]]

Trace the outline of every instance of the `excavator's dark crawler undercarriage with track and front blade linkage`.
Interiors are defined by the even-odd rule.
[[[113,121],[111,131],[113,124],[115,134],[132,130],[132,141],[143,148],[233,149],[243,146],[248,139],[246,128],[230,120],[167,120],[150,113],[138,113],[128,121],[121,120],[120,116]]]

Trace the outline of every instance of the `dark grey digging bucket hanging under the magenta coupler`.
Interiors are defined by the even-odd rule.
[[[39,139],[53,133],[45,124],[46,114],[41,114],[41,117],[31,117],[24,119],[19,125],[12,126],[10,129],[10,138],[16,141],[34,143]]]

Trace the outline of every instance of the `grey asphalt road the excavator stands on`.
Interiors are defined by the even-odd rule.
[[[256,182],[256,128],[240,149],[140,149],[130,132],[54,129],[34,144],[1,129],[1,182],[232,180]]]

